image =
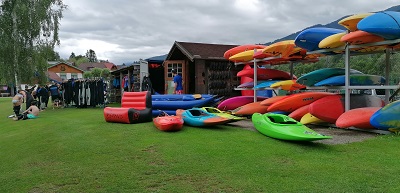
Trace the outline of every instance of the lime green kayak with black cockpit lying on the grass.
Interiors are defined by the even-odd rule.
[[[262,134],[281,140],[314,141],[331,139],[321,135],[300,122],[282,114],[254,113],[251,117],[254,127]]]

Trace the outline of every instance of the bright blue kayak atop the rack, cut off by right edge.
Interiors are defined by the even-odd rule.
[[[358,22],[359,30],[392,40],[400,38],[400,12],[383,11],[372,14]]]

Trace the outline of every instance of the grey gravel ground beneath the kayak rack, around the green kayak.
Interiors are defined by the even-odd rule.
[[[229,125],[257,132],[250,119],[229,123]],[[335,127],[321,126],[321,125],[307,125],[307,126],[320,134],[332,136],[332,139],[318,140],[315,141],[315,143],[332,144],[332,145],[359,142],[372,137],[376,137],[380,134],[388,134],[387,132],[382,132],[377,130],[362,131],[353,129],[339,129]]]

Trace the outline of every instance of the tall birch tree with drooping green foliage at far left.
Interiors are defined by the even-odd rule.
[[[66,8],[62,0],[0,0],[0,76],[8,85],[47,78],[43,72],[58,55],[54,46]]]

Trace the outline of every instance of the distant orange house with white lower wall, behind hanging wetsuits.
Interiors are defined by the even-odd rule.
[[[83,78],[84,71],[68,62],[53,62],[50,64],[51,66],[47,68],[47,76],[50,80],[62,82],[71,78]]]

